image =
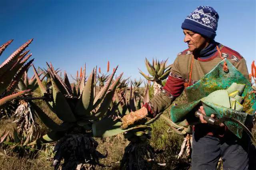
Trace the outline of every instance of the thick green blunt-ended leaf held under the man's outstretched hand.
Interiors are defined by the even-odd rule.
[[[92,124],[92,132],[94,137],[108,137],[114,136],[123,132],[127,132],[136,128],[146,128],[147,125],[134,126],[128,129],[121,129],[122,122],[114,122],[110,118],[104,118]]]

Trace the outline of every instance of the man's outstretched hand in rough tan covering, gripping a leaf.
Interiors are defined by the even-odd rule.
[[[122,120],[122,129],[126,129],[129,125],[134,124],[135,121],[141,120],[148,115],[148,110],[145,107],[142,107],[135,112],[130,112],[130,114],[125,115]]]

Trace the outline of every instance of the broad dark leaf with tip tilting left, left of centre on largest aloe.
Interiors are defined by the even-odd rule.
[[[72,113],[72,110],[66,101],[64,95],[60,92],[59,88],[56,86],[54,79],[52,80],[52,95],[54,99],[53,109],[60,120],[64,122],[75,122],[76,118]]]

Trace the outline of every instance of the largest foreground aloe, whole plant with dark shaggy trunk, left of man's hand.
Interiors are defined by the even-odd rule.
[[[60,166],[62,159],[64,159],[62,170],[80,169],[87,164],[101,165],[99,158],[104,156],[96,151],[98,143],[92,138],[92,124],[107,116],[112,96],[122,76],[121,74],[112,82],[116,69],[117,67],[100,92],[95,94],[96,69],[93,69],[86,83],[84,69],[78,87],[72,89],[68,78],[64,76],[62,80],[50,64],[48,72],[52,83],[52,95],[47,93],[34,69],[48,107],[62,120],[62,123],[57,124],[40,107],[32,103],[38,117],[51,131],[29,145],[58,141],[54,148],[55,168]]]

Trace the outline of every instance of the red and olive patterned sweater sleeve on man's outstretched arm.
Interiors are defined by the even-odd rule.
[[[149,115],[154,117],[156,114],[168,108],[175,98],[182,94],[183,90],[184,82],[180,74],[177,57],[172,65],[170,75],[168,76],[165,86],[162,88],[160,93],[150,100],[150,102],[144,104],[144,107],[147,108]]]

